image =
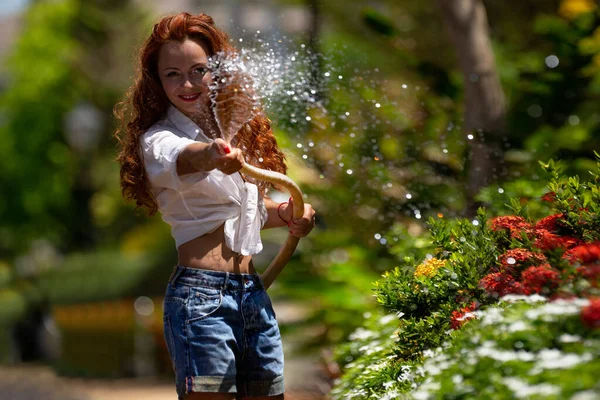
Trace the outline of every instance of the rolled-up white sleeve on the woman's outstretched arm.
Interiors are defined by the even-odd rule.
[[[140,147],[144,166],[152,186],[181,190],[208,175],[207,172],[196,172],[183,176],[177,174],[177,157],[192,143],[196,142],[189,138],[179,137],[169,130],[149,131],[141,137]]]

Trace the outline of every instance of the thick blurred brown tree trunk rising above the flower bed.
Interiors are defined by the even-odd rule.
[[[505,174],[505,99],[496,70],[483,1],[438,2],[464,78],[464,131],[473,135],[473,139],[468,140],[466,213],[472,216],[479,206],[475,195]]]

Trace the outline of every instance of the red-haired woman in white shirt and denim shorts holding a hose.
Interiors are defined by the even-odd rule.
[[[305,205],[265,197],[266,184],[238,172],[243,160],[285,173],[269,121],[257,116],[231,148],[210,109],[208,58],[233,52],[205,14],[161,19],[140,51],[121,122],[123,195],[171,226],[178,263],[164,300],[165,341],[180,399],[283,398],[283,352],[270,299],[252,264],[260,230],[314,227]],[[240,149],[244,149],[243,153]]]

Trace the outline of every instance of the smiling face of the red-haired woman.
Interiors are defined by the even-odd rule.
[[[187,116],[205,111],[209,103],[207,63],[207,47],[190,39],[167,42],[158,53],[162,87],[171,103]]]

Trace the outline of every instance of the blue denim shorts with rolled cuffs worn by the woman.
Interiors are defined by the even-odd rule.
[[[180,400],[190,392],[283,393],[281,336],[259,275],[176,266],[163,322]]]

